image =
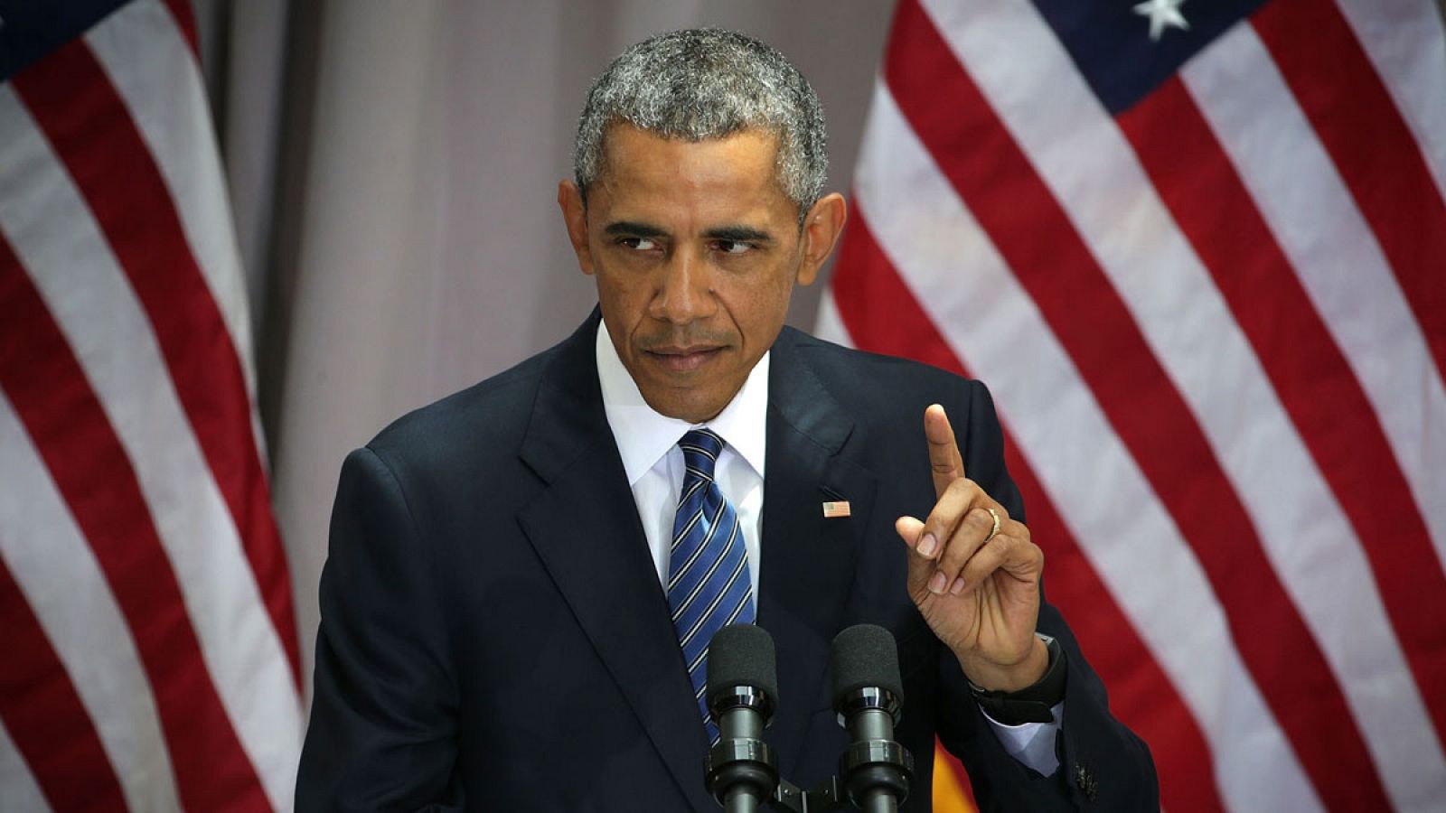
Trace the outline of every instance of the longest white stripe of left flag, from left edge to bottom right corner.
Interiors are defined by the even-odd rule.
[[[272,804],[289,807],[301,709],[231,515],[176,399],[150,324],[69,175],[0,87],[0,229],[74,347],[126,448],[202,655]]]

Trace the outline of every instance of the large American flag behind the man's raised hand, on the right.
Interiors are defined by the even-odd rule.
[[[901,0],[855,185],[820,333],[991,385],[1164,806],[1442,810],[1434,1]]]

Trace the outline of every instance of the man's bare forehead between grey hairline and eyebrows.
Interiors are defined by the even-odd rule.
[[[597,176],[613,205],[732,205],[792,208],[778,184],[778,139],[758,129],[690,142],[613,124]]]

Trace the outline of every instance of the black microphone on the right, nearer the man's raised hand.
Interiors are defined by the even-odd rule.
[[[839,758],[850,801],[868,813],[895,813],[908,797],[914,757],[894,741],[904,680],[894,635],[860,623],[833,639],[833,709],[853,744]]]

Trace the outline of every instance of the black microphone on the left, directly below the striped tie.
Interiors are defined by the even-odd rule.
[[[727,813],[755,813],[778,788],[778,759],[763,728],[778,702],[774,637],[753,623],[730,623],[709,642],[709,713],[722,738],[703,764],[713,799]]]

